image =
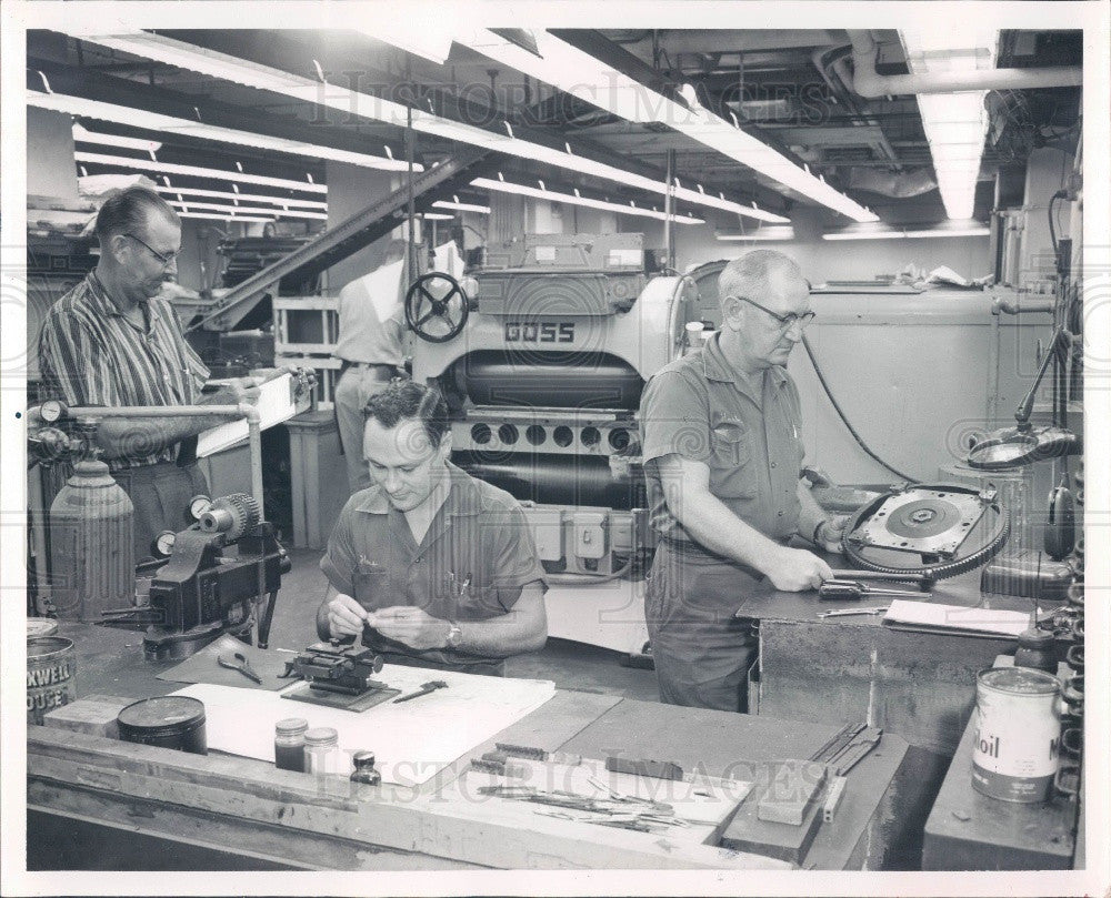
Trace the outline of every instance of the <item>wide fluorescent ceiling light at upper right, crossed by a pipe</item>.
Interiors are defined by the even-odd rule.
[[[933,28],[900,31],[899,36],[907,65],[913,74],[995,68],[999,32],[993,29],[953,29],[945,22]],[[918,95],[938,190],[950,219],[972,216],[983,140],[988,133],[988,113],[983,105],[987,94],[978,90]]]

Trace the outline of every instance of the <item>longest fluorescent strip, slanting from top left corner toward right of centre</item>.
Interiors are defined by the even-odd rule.
[[[307,103],[330,107],[339,110],[344,115],[359,115],[364,119],[397,125],[398,128],[406,128],[411,121],[413,130],[426,134],[434,134],[444,140],[469,143],[493,152],[507,153],[533,162],[543,162],[557,168],[575,171],[580,174],[614,181],[619,184],[625,184],[661,195],[668,192],[668,185],[663,181],[657,181],[652,178],[627,171],[625,169],[619,169],[615,165],[609,165],[604,162],[577,155],[571,151],[569,143],[564,143],[567,148],[564,151],[516,138],[512,134],[512,127],[508,123],[506,124],[507,133],[504,134],[487,131],[472,124],[444,119],[422,109],[409,109],[391,100],[359,93],[336,84],[321,83],[320,81],[291,74],[280,69],[260,65],[256,62],[249,62],[224,53],[218,53],[182,41],[172,40],[161,34],[151,34],[142,31],[124,34],[90,34],[82,33],[80,30],[68,33],[71,37],[112,50],[166,62],[170,65],[232,81],[237,84],[246,84],[258,90],[292,97]],[[388,40],[386,34],[378,36],[376,33],[376,37]],[[404,163],[400,163],[400,165],[404,168]],[[770,221],[780,224],[789,222],[789,219],[784,219],[782,215],[777,215],[755,206],[737,203],[722,196],[702,193],[690,188],[678,188],[673,193],[677,199],[687,200],[697,205],[722,209],[727,212],[734,212],[738,215],[745,215],[760,221]]]

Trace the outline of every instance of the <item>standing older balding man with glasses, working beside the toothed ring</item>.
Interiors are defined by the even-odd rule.
[[[719,278],[722,324],[695,352],[659,371],[641,398],[652,526],[661,539],[645,594],[660,699],[743,710],[757,654],[734,617],[767,577],[801,592],[830,578],[799,534],[827,549],[840,538],[800,483],[799,393],[788,356],[810,323],[799,266],[771,250]]]

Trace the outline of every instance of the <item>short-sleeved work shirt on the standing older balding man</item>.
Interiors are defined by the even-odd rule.
[[[668,507],[653,462],[664,455],[704,462],[710,492],[745,524],[772,539],[799,525],[802,443],[799,391],[785,369],[765,369],[750,385],[733,373],[714,334],[703,346],[661,369],[640,404],[648,503],[655,531],[691,542]],[[762,395],[753,395],[758,386]],[[759,400],[759,401],[758,401]]]

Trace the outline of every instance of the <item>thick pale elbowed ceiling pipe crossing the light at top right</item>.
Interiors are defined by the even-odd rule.
[[[852,42],[852,89],[861,97],[895,97],[919,93],[960,93],[973,90],[1024,90],[1028,88],[1080,87],[1079,65],[1052,69],[983,69],[975,72],[889,74],[875,72],[875,41],[869,31],[850,30]]]

